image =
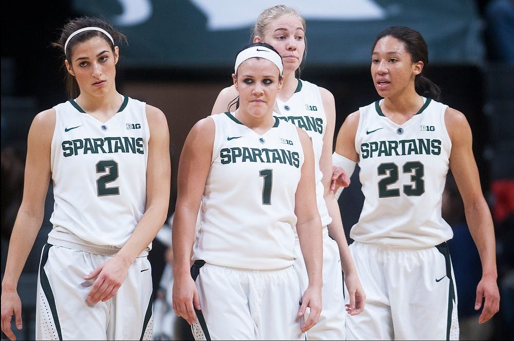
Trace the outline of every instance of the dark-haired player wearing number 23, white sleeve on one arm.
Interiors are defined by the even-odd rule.
[[[482,260],[475,309],[479,323],[499,308],[491,215],[481,191],[462,112],[437,102],[440,90],[422,75],[423,37],[389,27],[373,44],[371,75],[383,99],[359,108],[337,136],[334,165],[355,163],[365,196],[350,250],[366,292],[366,309],[347,320],[348,339],[458,339],[457,295],[441,217],[451,168]],[[479,271],[477,269],[477,271]]]

